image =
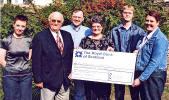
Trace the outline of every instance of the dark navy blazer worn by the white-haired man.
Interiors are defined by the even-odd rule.
[[[44,88],[55,92],[62,84],[65,89],[70,85],[68,75],[71,73],[74,48],[71,34],[63,30],[60,32],[64,42],[62,55],[49,28],[36,34],[32,42],[34,82],[43,82]]]

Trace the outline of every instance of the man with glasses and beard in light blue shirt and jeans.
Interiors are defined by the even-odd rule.
[[[71,33],[74,48],[78,47],[81,39],[92,34],[88,27],[82,25],[84,13],[80,9],[75,9],[71,16],[72,24],[62,27],[61,29]],[[84,100],[84,81],[75,80],[75,100]]]

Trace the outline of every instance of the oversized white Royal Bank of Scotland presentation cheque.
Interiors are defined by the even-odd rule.
[[[72,79],[131,85],[136,54],[74,50]]]

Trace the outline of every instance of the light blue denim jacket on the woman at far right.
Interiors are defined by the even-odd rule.
[[[141,81],[147,80],[153,72],[166,71],[167,52],[168,40],[158,28],[137,55],[136,71],[143,71],[139,76]]]

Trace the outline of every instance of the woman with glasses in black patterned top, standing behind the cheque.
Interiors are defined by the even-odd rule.
[[[85,37],[80,43],[82,49],[114,51],[114,43],[108,36],[102,34],[103,19],[99,15],[91,18],[93,34]],[[110,100],[111,84],[101,82],[85,82],[86,100]]]

